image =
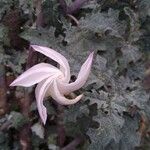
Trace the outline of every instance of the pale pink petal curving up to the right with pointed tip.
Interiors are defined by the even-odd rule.
[[[94,52],[92,52],[89,55],[87,60],[82,65],[80,72],[78,74],[78,77],[77,77],[75,82],[70,83],[70,84],[59,82],[59,89],[60,89],[61,93],[64,93],[64,94],[71,93],[75,90],[80,89],[85,84],[85,82],[89,76],[90,70],[91,70],[93,54],[94,54]]]

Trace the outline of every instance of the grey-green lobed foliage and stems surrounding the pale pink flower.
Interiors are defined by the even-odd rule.
[[[22,141],[35,150],[67,150],[72,142],[70,150],[150,149],[150,1],[88,1],[70,13],[77,20],[59,2],[0,0],[0,149],[21,149]],[[50,62],[29,44],[63,54],[71,80],[95,52],[88,82],[75,93],[84,98],[61,110],[49,98],[46,126],[34,87],[9,87],[33,64]]]

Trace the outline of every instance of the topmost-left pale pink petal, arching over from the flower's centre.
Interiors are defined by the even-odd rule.
[[[38,46],[38,45],[31,45],[31,47],[45,56],[53,59],[54,61],[58,62],[60,64],[60,70],[64,73],[64,81],[69,82],[70,80],[70,67],[68,64],[67,59],[61,55],[60,53],[54,51],[51,48]]]

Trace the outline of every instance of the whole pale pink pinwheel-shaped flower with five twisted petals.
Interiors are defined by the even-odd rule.
[[[60,65],[59,68],[51,64],[39,63],[21,74],[10,86],[30,87],[38,83],[35,89],[37,108],[42,122],[45,124],[47,119],[47,110],[43,105],[45,97],[51,96],[62,105],[71,105],[81,99],[83,94],[75,99],[67,99],[64,95],[78,90],[85,84],[91,70],[93,52],[82,65],[76,81],[69,83],[70,67],[63,55],[48,47],[37,45],[31,45],[31,47],[56,61]]]

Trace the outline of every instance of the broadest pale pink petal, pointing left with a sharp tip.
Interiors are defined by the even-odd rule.
[[[61,71],[50,64],[40,63],[21,74],[10,86],[29,87],[54,74],[61,74]]]

